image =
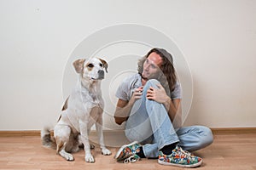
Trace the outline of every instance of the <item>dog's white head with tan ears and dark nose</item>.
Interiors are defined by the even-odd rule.
[[[102,80],[105,71],[108,72],[108,63],[99,58],[77,59],[73,62],[73,66],[83,78],[92,81]]]

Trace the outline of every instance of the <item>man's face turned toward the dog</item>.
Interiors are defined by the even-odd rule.
[[[156,78],[159,71],[162,59],[159,54],[151,53],[143,64],[143,78]]]

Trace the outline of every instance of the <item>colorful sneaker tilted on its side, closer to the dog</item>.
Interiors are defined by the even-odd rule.
[[[140,151],[140,146],[142,145],[138,144],[137,141],[134,141],[131,144],[125,144],[118,150],[114,159],[117,161],[124,161],[124,163],[138,161],[141,159],[140,156],[137,156],[137,152]]]

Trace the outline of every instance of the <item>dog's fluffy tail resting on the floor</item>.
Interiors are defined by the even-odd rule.
[[[55,139],[53,136],[50,134],[50,128],[49,127],[44,127],[41,130],[41,139],[42,139],[42,144],[47,147],[47,148],[52,148],[56,149],[56,143]]]

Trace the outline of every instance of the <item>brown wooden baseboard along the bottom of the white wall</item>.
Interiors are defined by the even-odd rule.
[[[239,134],[239,133],[254,133],[256,127],[212,127],[213,134]],[[95,132],[92,132],[95,133]],[[122,133],[119,130],[107,130],[104,133]],[[22,131],[0,131],[0,137],[25,137],[25,136],[40,136],[39,130],[22,130]]]

